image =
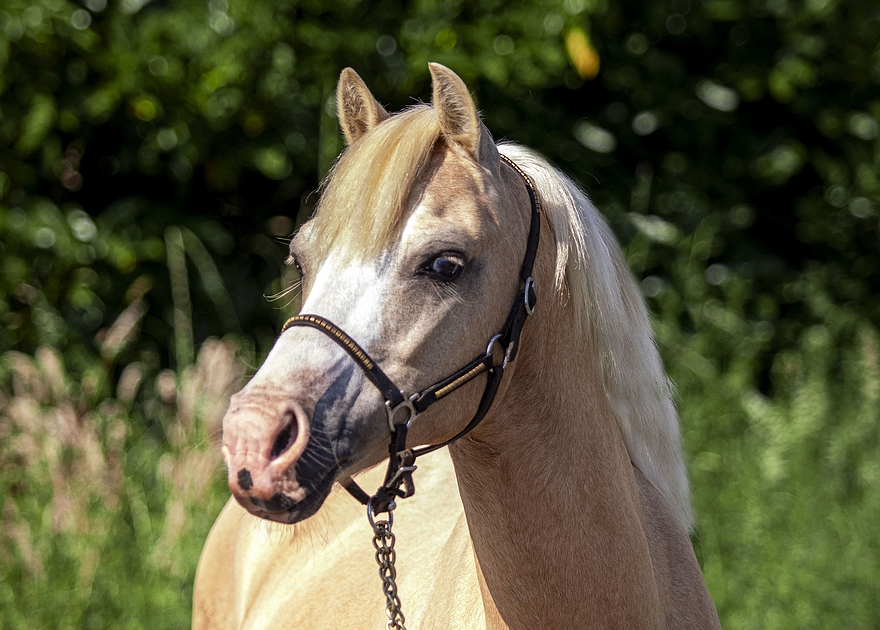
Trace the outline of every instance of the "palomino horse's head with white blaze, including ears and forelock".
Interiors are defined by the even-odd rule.
[[[255,515],[307,518],[334,481],[388,456],[385,400],[340,334],[416,392],[489,355],[487,340],[521,291],[527,189],[461,79],[438,64],[430,70],[433,106],[394,116],[354,71],[340,77],[348,147],[290,253],[302,270],[302,312],[345,332],[287,328],[230,404],[229,487]],[[419,415],[410,443],[456,435],[478,407],[481,380]]]

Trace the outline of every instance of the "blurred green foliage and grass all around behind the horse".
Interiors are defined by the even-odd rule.
[[[0,627],[188,623],[211,401],[296,308],[263,296],[341,150],[336,77],[396,110],[428,61],[624,244],[723,625],[880,625],[873,0],[7,0]]]

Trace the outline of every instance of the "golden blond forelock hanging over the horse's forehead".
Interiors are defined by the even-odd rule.
[[[324,181],[312,221],[319,257],[375,257],[396,235],[414,185],[424,174],[440,124],[415,105],[374,127],[340,155]]]

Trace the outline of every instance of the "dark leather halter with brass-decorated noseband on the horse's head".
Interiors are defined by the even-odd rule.
[[[535,292],[535,281],[532,279],[532,267],[535,264],[535,256],[538,252],[538,240],[541,233],[541,202],[535,192],[531,178],[517,166],[513,160],[501,155],[501,160],[515,170],[523,178],[529,193],[531,202],[531,225],[529,238],[526,246],[526,255],[522,264],[523,286],[513,302],[507,321],[501,331],[489,339],[486,352],[479,355],[470,363],[456,370],[446,378],[423,389],[415,394],[407,394],[397,387],[378,364],[361,348],[354,339],[336,326],[326,317],[320,315],[296,315],[285,322],[281,328],[283,334],[294,326],[308,326],[315,328],[327,335],[345,350],[358,367],[364,371],[364,376],[379,390],[385,398],[385,409],[388,414],[388,429],[391,432],[391,442],[388,445],[388,470],[385,473],[385,481],[372,496],[367,494],[351,477],[340,479],[339,483],[358,501],[368,507],[370,518],[381,512],[393,509],[394,499],[406,498],[415,492],[412,473],[415,471],[415,460],[421,455],[436,451],[452,442],[464,437],[476,427],[489,412],[504,369],[516,358],[519,351],[519,338],[526,319],[534,312],[538,296]],[[493,350],[499,346],[504,353],[501,363],[496,363]],[[425,409],[438,400],[452,393],[465,383],[470,382],[480,374],[487,375],[486,388],[480,399],[480,406],[470,422],[455,436],[430,446],[419,448],[406,447],[406,435],[409,426],[416,417]],[[403,412],[403,413],[400,413]],[[401,490],[403,486],[403,490]]]

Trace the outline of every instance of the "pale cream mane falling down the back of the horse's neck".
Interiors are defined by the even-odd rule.
[[[600,352],[605,395],[630,460],[690,529],[690,490],[672,385],[614,234],[578,185],[547,160],[512,143],[498,149],[535,183],[556,241],[556,290],[569,293],[581,329]]]

